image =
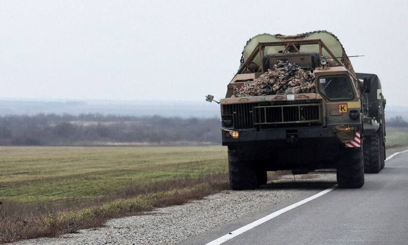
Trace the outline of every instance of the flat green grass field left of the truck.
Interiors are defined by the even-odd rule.
[[[0,147],[0,201],[102,197],[130,185],[227,172],[226,147]]]

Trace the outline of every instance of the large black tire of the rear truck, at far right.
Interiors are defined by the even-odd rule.
[[[378,174],[381,171],[381,148],[378,134],[366,136],[364,141],[364,173]]]

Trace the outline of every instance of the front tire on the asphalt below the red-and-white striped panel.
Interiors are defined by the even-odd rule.
[[[337,183],[341,188],[360,188],[364,185],[364,163],[361,147],[348,148],[337,166]]]

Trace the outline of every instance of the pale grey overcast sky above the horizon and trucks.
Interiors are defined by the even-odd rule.
[[[408,105],[407,1],[0,1],[0,99],[225,95],[258,33],[327,30]],[[398,45],[401,45],[398,47]]]

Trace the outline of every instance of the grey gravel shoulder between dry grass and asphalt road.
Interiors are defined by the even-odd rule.
[[[19,245],[177,244],[229,221],[299,194],[296,190],[222,191],[203,200],[158,208],[149,215],[112,219],[105,227],[59,238],[19,241]]]

